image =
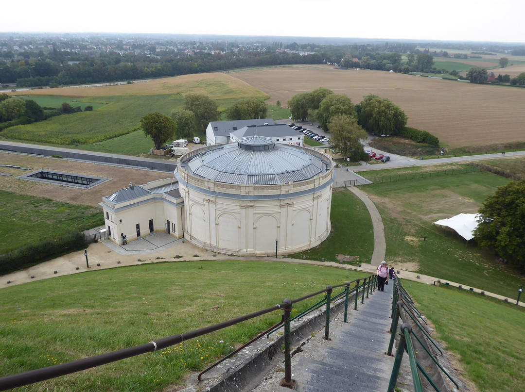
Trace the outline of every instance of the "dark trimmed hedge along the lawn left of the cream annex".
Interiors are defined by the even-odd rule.
[[[80,251],[87,244],[86,236],[80,231],[41,239],[0,255],[0,274],[9,274],[66,253]]]

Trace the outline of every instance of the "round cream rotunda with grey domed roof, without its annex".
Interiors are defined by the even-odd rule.
[[[261,136],[181,157],[184,237],[235,255],[290,254],[330,233],[333,164],[309,148]]]

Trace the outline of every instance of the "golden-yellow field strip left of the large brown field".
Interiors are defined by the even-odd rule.
[[[117,96],[117,95],[159,95],[159,94],[205,94],[212,99],[268,96],[248,83],[232,78],[224,73],[199,73],[181,75],[173,78],[153,79],[140,83],[94,86],[62,87],[23,92],[10,92],[12,95],[54,95],[67,97]]]

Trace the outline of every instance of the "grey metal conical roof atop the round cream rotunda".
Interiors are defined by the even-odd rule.
[[[194,176],[217,182],[273,185],[308,180],[325,173],[331,164],[301,148],[251,136],[206,150],[180,166]]]

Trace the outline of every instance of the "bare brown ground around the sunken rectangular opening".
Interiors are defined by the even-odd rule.
[[[38,169],[50,169],[110,178],[110,181],[106,181],[91,189],[80,189],[18,179],[16,177],[26,175],[31,171],[2,167],[3,173],[12,175],[12,177],[0,177],[0,189],[2,190],[45,197],[71,204],[86,204],[97,207],[102,201],[102,197],[109,196],[119,189],[127,188],[130,182],[140,185],[149,181],[170,177],[169,173],[158,171],[97,165],[66,159],[6,153],[4,151],[0,151],[0,164],[28,167],[31,168],[31,171]]]

